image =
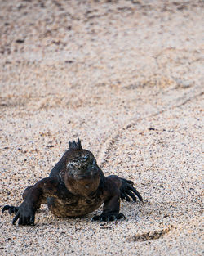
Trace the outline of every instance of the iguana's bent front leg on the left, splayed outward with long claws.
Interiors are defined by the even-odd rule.
[[[9,213],[16,213],[12,221],[13,224],[19,219],[19,225],[34,225],[36,210],[47,196],[56,197],[58,189],[59,182],[57,177],[43,178],[26,190],[24,201],[19,207],[6,205],[3,207],[2,212],[8,210]]]

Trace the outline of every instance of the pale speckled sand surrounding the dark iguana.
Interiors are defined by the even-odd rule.
[[[78,137],[144,197],[110,223],[1,213],[1,255],[202,255],[203,2],[133,2],[0,2],[1,207]]]

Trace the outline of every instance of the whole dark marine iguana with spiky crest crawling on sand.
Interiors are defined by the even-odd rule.
[[[2,212],[15,213],[12,223],[34,225],[35,213],[41,204],[57,217],[80,217],[91,213],[104,204],[103,213],[93,220],[113,221],[125,218],[120,210],[120,199],[131,201],[142,197],[133,187],[133,182],[116,175],[104,177],[94,155],[83,150],[81,141],[69,142],[60,161],[43,178],[24,190],[23,203],[19,207],[5,205]]]

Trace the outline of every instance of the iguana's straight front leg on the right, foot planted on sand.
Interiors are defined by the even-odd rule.
[[[124,214],[120,211],[120,191],[115,182],[109,177],[104,177],[104,208],[101,215],[95,215],[93,221],[110,222],[115,219],[125,218]]]

